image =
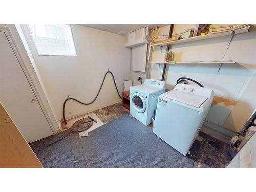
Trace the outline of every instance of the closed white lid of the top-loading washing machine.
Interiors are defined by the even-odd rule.
[[[200,95],[195,95],[195,94],[191,94],[191,93],[187,93],[179,90],[168,91],[163,94],[163,97],[173,99],[175,101],[179,101],[191,106],[195,106],[196,108],[200,108],[200,106],[207,99],[207,97],[203,97]]]

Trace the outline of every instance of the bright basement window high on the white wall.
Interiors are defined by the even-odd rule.
[[[29,25],[38,55],[76,56],[70,25]]]

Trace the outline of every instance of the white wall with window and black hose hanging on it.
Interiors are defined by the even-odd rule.
[[[123,91],[123,80],[131,79],[131,49],[124,47],[124,36],[79,25],[71,27],[77,56],[39,56],[27,26],[22,25],[40,80],[57,120],[62,119],[62,104],[68,95],[82,102],[92,101],[108,69],[115,76],[120,95]],[[66,118],[118,101],[120,98],[109,74],[93,104],[81,105],[68,101]]]

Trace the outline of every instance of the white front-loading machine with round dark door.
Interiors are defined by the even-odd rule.
[[[145,79],[143,84],[130,88],[130,114],[144,125],[152,123],[159,95],[165,92],[166,82]]]

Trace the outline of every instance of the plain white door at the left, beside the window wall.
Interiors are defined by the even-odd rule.
[[[3,32],[0,32],[0,102],[28,142],[53,135]]]

